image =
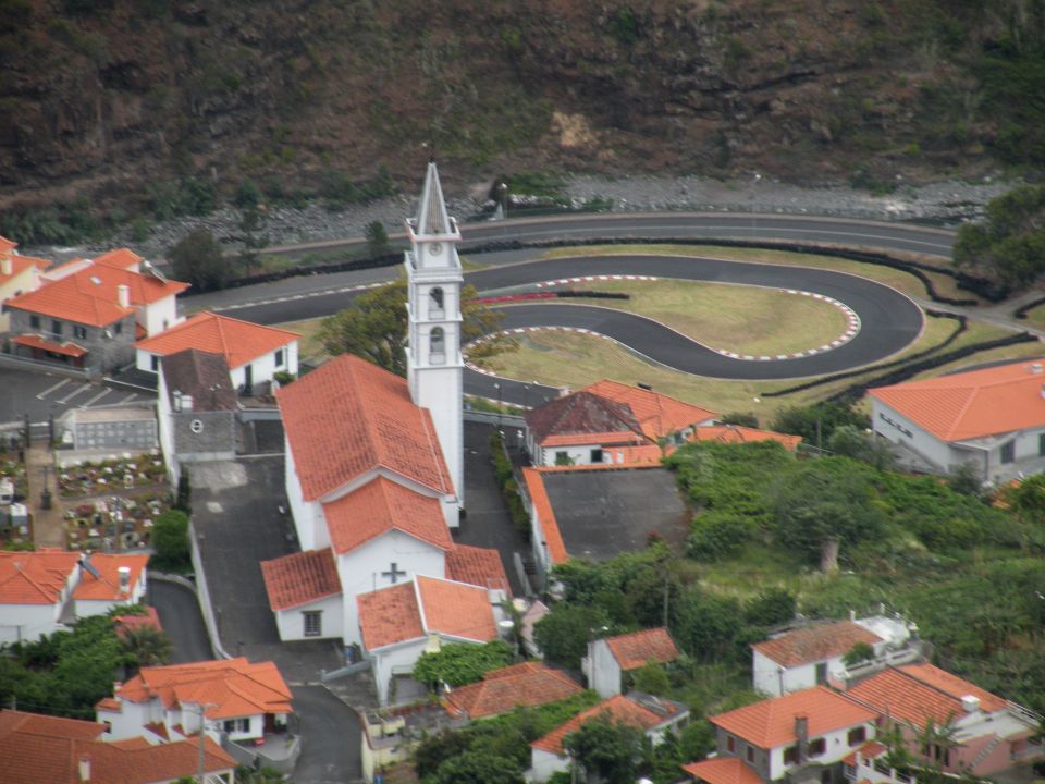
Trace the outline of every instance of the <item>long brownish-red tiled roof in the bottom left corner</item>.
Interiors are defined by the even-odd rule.
[[[173,784],[202,765],[208,784],[235,784],[236,761],[213,739],[155,745],[109,742],[104,725],[79,719],[0,710],[5,784]]]

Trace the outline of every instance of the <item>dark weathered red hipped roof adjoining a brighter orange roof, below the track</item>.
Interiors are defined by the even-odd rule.
[[[642,428],[626,404],[585,390],[550,401],[525,416],[540,444],[550,437],[555,438],[555,445],[592,443],[595,436],[612,438],[615,443],[644,441]]]

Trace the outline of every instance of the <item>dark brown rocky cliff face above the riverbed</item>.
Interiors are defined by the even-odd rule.
[[[464,176],[975,171],[992,119],[918,5],[0,0],[0,209],[433,151]]]

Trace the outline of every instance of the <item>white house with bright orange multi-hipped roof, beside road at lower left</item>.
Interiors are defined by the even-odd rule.
[[[275,664],[238,658],[142,667],[95,711],[109,740],[182,740],[202,723],[213,740],[242,743],[284,733],[293,706]]]

